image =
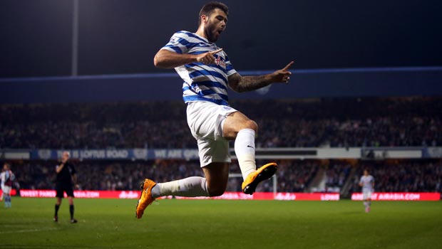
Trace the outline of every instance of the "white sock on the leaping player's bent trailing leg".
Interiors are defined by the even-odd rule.
[[[160,196],[209,196],[209,191],[205,178],[192,176],[155,185],[152,189],[152,197],[158,198]]]

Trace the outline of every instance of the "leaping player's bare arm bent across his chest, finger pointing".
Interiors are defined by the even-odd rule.
[[[187,53],[175,53],[165,49],[160,49],[153,58],[153,64],[157,68],[176,68],[180,65],[189,63],[212,64],[215,62],[215,54],[222,51],[222,48],[216,51],[192,55]]]

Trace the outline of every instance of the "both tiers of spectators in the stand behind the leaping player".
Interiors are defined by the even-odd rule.
[[[259,125],[257,147],[442,146],[441,97],[233,100]],[[0,149],[195,148],[180,101],[0,105]],[[262,164],[264,161],[257,161]],[[414,161],[277,160],[277,191],[309,191],[324,172],[323,191],[359,191],[362,169],[376,191],[442,191],[442,163]],[[22,189],[54,189],[56,161],[14,161]],[[88,190],[137,190],[149,176],[171,181],[202,175],[196,160],[77,161]],[[230,172],[239,174],[234,160]],[[227,191],[240,191],[232,177]],[[273,191],[272,181],[257,191]]]

